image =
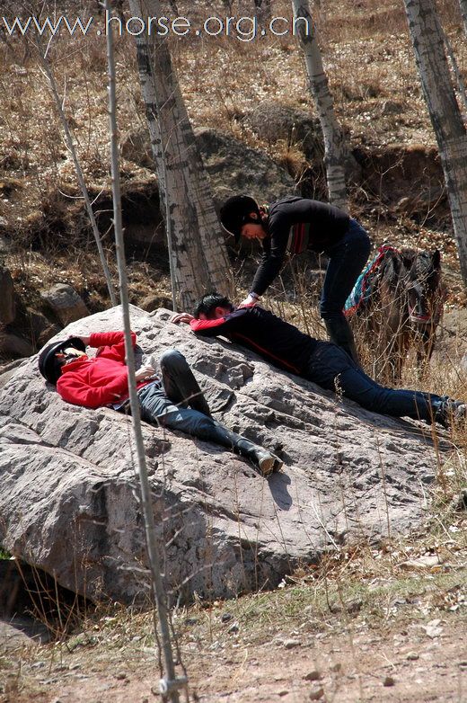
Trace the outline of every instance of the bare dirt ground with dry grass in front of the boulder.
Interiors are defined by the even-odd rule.
[[[461,703],[467,572],[450,534],[424,555],[335,555],[276,592],[176,610],[191,699]],[[57,644],[3,636],[2,650],[2,703],[159,699],[149,615],[99,612]]]

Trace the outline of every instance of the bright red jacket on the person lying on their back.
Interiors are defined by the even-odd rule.
[[[133,346],[137,335],[131,333]],[[125,364],[123,332],[92,334],[90,347],[101,347],[95,359],[87,356],[71,361],[62,369],[57,391],[67,403],[84,407],[101,407],[122,403],[128,398],[128,368]],[[138,388],[148,381],[140,381]]]

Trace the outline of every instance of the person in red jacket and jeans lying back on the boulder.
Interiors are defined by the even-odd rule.
[[[137,336],[132,333],[131,337],[135,346]],[[94,358],[86,355],[86,346],[98,348]],[[162,378],[152,366],[142,366],[136,372],[143,420],[233,449],[251,459],[263,476],[282,466],[268,450],[211,417],[206,398],[180,351],[164,351],[160,365]],[[40,352],[39,369],[67,403],[90,408],[106,405],[115,410],[128,407],[123,332],[95,333],[48,344]]]

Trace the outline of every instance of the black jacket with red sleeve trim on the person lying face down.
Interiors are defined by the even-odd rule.
[[[239,307],[218,320],[191,320],[193,332],[206,337],[222,335],[256,351],[265,360],[301,375],[317,341],[256,305]]]

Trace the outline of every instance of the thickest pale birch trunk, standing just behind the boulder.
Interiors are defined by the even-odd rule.
[[[147,21],[163,15],[159,0],[129,0]],[[189,309],[207,290],[232,294],[231,267],[210,184],[189,122],[167,38],[153,31],[137,38],[138,69],[153,154],[171,233],[176,297]]]

